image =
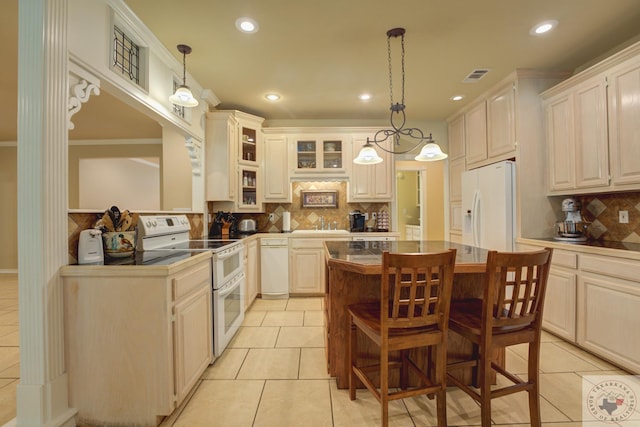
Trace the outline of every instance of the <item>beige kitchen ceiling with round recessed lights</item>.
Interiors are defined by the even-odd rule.
[[[573,70],[640,36],[638,0],[125,2],[180,61],[175,46],[193,48],[187,70],[218,96],[218,108],[240,109],[271,123],[385,120],[390,104],[386,32],[394,27],[407,30],[409,122],[445,119],[516,68]],[[13,41],[8,52],[13,64],[16,5],[17,0],[3,1],[0,17],[4,39]],[[260,30],[238,32],[235,20],[241,16],[258,21]],[[555,31],[529,35],[534,24],[548,19],[559,21]],[[397,39],[392,49],[397,58]],[[14,90],[17,96],[12,89],[16,68],[0,68],[0,93]],[[491,71],[477,83],[462,83],[475,68]],[[394,76],[399,71],[394,62]],[[394,80],[396,98],[399,86]],[[270,91],[282,99],[266,101]],[[365,91],[373,95],[367,103],[357,98]],[[466,98],[454,103],[449,100],[454,94]],[[0,106],[0,114],[15,117],[15,105]],[[0,140],[10,135],[10,125],[15,120],[2,120]]]

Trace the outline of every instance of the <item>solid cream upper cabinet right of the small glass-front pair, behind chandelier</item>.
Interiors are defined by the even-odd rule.
[[[354,135],[350,141],[352,159],[358,156],[366,141],[367,135]],[[377,150],[377,152],[382,157],[382,163],[375,165],[351,164],[347,202],[384,202],[393,200],[393,155],[382,150]]]

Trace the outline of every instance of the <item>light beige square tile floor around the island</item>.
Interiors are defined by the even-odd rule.
[[[352,402],[327,375],[322,325],[321,298],[256,300],[229,348],[161,427],[379,425],[380,407],[370,393],[359,390]],[[525,373],[525,348],[507,350],[507,364]],[[540,372],[545,427],[599,425],[581,421],[581,378],[624,374],[550,334],[544,334]],[[19,374],[18,281],[0,274],[0,425],[15,417]],[[435,426],[434,404],[423,397],[392,402],[390,425]],[[478,406],[460,390],[447,391],[447,407],[449,426],[479,425]],[[528,425],[526,396],[495,400],[492,415],[496,425]],[[618,425],[638,426],[640,415]]]

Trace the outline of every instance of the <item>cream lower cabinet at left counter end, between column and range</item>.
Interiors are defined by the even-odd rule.
[[[156,426],[213,358],[211,254],[169,266],[66,266],[61,276],[77,421]]]

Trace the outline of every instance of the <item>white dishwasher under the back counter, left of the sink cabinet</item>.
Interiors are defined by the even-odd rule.
[[[289,298],[288,238],[260,238],[260,272],[262,298]]]

